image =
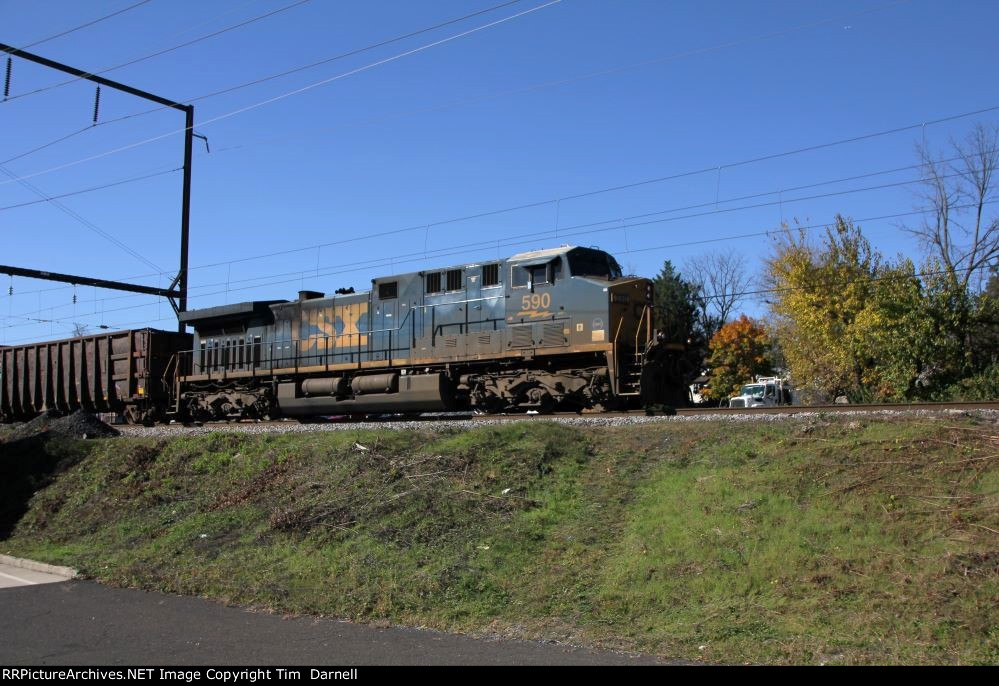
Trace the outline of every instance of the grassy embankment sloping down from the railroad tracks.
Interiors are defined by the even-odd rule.
[[[0,552],[670,658],[995,664],[997,433],[830,418],[8,442]]]

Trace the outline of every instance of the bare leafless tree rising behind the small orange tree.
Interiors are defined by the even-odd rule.
[[[684,265],[696,290],[701,328],[710,340],[745,299],[752,283],[746,260],[734,250],[693,257]]]

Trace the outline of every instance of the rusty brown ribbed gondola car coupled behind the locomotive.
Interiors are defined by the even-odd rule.
[[[163,419],[172,392],[168,367],[190,346],[190,334],[137,329],[0,347],[0,418],[86,410],[133,423]]]

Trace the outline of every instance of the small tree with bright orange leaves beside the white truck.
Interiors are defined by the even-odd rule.
[[[718,330],[710,343],[711,382],[701,395],[708,400],[722,400],[759,374],[770,374],[771,348],[767,330],[741,315]]]

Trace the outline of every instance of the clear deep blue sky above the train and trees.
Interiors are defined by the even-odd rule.
[[[772,241],[734,236],[795,219],[819,226],[837,212],[861,220],[885,254],[918,261],[899,227],[918,217],[869,218],[921,207],[905,183],[919,172],[881,172],[915,164],[924,137],[943,148],[999,121],[997,109],[736,164],[999,106],[992,0],[545,1],[196,100],[211,151],[198,142],[190,307],[360,289],[562,243],[599,246],[647,276],[666,259],[682,268],[719,250],[756,273]],[[0,1],[0,42],[25,46],[136,2]],[[150,0],[27,49],[96,71],[294,3]],[[500,3],[310,0],[105,76],[187,102]],[[29,94],[64,80],[14,60],[0,166],[37,190],[0,173],[0,263],[166,286],[178,262],[181,175],[171,170],[182,116],[111,121],[150,105],[102,89],[91,127],[94,84]],[[33,202],[154,173],[61,199],[75,216]],[[859,190],[876,185],[889,187]],[[793,190],[802,186],[813,187]],[[175,326],[153,297],[0,282],[0,344],[65,337],[74,323]],[[764,312],[752,300],[742,309]]]

